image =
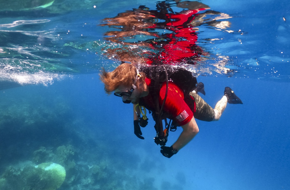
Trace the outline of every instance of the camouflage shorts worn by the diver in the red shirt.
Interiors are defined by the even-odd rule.
[[[191,92],[189,95],[194,98],[196,105],[196,111],[194,112],[193,117],[201,121],[213,121],[215,118],[215,110],[198,94]]]

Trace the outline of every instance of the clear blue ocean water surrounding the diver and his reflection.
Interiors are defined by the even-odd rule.
[[[151,116],[138,139],[132,106],[107,95],[98,76],[119,64],[102,55],[116,44],[101,20],[155,1],[1,10],[0,79],[22,86],[0,91],[0,187],[13,189],[19,168],[55,162],[66,168],[59,189],[290,189],[289,3],[200,2],[231,25],[200,25],[197,42],[210,56],[188,67],[211,106],[225,86],[244,104],[228,104],[219,121],[197,120],[200,132],[170,159],[154,143]]]

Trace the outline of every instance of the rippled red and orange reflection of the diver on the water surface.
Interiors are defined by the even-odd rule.
[[[183,10],[173,11],[178,8]],[[156,4],[156,10],[140,5],[113,18],[105,18],[101,26],[116,29],[104,34],[110,42],[107,49],[103,49],[105,55],[121,62],[147,64],[195,64],[205,60],[208,52],[196,43],[197,27],[230,25],[228,21],[217,21],[229,15],[208,9],[208,5],[197,1],[162,1]]]

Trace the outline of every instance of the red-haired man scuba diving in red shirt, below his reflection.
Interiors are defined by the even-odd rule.
[[[156,130],[154,140],[161,145],[160,152],[167,158],[180,151],[199,132],[195,119],[218,121],[227,102],[242,104],[231,88],[225,87],[224,96],[213,109],[197,94],[205,95],[204,84],[197,83],[190,71],[174,65],[123,63],[112,72],[103,69],[100,78],[107,93],[114,91],[124,103],[133,103],[134,133],[140,139],[144,139],[140,126],[148,124],[146,109],[152,112]],[[173,145],[165,146],[169,130],[175,131],[177,126],[183,131]]]

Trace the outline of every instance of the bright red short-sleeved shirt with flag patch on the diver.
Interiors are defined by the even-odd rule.
[[[145,82],[148,86],[151,86],[151,79],[145,78]],[[160,88],[159,103],[160,106],[163,103],[166,92],[166,82],[164,82]],[[152,110],[155,106],[153,103],[153,96],[149,95],[142,97],[142,102],[146,105],[145,107]],[[183,91],[173,82],[168,82],[168,92],[163,110],[175,118],[176,122],[183,126],[188,123],[192,117],[193,112],[189,106],[184,102]]]

